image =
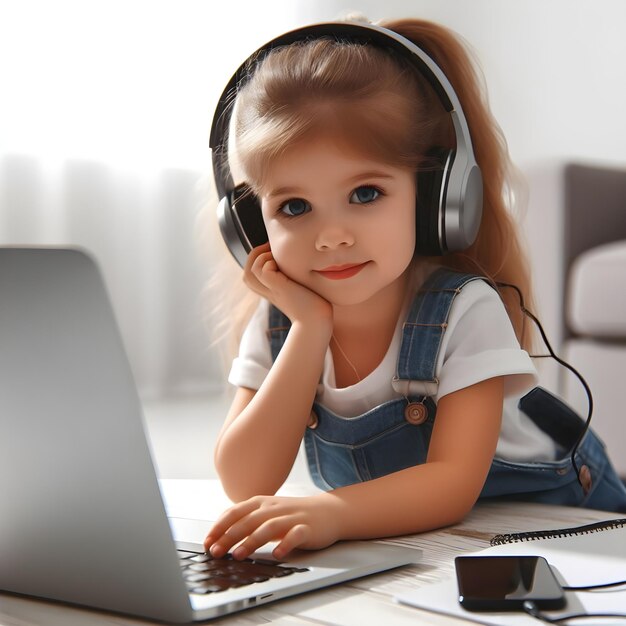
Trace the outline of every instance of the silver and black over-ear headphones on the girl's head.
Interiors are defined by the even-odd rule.
[[[248,186],[235,187],[228,165],[228,127],[234,97],[251,74],[251,59],[258,63],[274,48],[320,38],[364,43],[393,51],[432,86],[452,118],[456,148],[436,148],[430,156],[440,166],[434,171],[418,172],[415,249],[421,255],[442,255],[471,246],[482,216],[482,175],[463,109],[445,74],[423,50],[392,30],[372,24],[327,22],[290,31],[259,48],[235,72],[218,101],[210,146],[215,185],[221,198],[218,221],[231,254],[243,267],[250,250],[267,242],[258,199]]]

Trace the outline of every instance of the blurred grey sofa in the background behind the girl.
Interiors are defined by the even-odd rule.
[[[570,164],[563,175],[563,356],[589,383],[593,426],[626,477],[626,168]],[[560,393],[586,414],[572,376]]]

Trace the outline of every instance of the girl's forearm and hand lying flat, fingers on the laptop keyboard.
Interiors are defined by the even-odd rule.
[[[245,558],[269,541],[277,559],[295,548],[320,549],[342,539],[423,532],[460,520],[480,487],[460,466],[439,462],[305,498],[257,496],[226,511],[205,540],[220,557],[233,546]]]

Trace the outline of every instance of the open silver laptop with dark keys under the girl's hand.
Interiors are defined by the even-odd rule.
[[[4,592],[189,623],[419,560],[375,542],[281,564],[177,545],[106,288],[80,249],[0,247],[0,432]]]

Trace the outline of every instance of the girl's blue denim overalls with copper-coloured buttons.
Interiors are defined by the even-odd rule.
[[[394,389],[403,397],[363,415],[341,417],[315,403],[304,443],[314,483],[325,490],[378,478],[426,461],[437,407],[430,396],[441,340],[454,298],[479,276],[436,270],[415,296],[403,326]],[[276,359],[290,322],[270,307],[268,334]],[[559,460],[508,462],[494,459],[481,498],[506,498],[626,512],[626,488],[604,445],[591,430],[576,453],[580,482],[570,451],[583,420],[558,398],[537,387],[519,408],[557,444]],[[582,483],[582,485],[581,485]]]

